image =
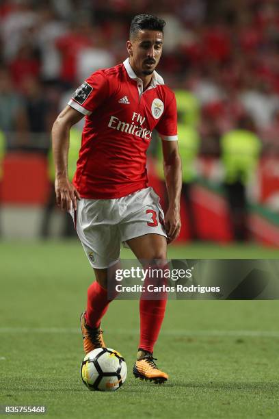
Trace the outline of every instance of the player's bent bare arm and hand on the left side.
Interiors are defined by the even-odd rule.
[[[62,210],[77,210],[79,192],[68,179],[68,151],[70,145],[70,128],[75,125],[83,114],[66,106],[57,116],[51,131],[53,160],[55,164],[55,193],[57,205]]]

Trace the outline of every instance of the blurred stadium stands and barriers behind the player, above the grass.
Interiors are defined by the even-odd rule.
[[[129,22],[141,11],[156,12],[157,6],[148,0],[140,4],[111,0],[105,5],[1,2],[3,238],[67,234],[61,227],[62,215],[54,211],[49,131],[88,74],[126,58]],[[228,242],[235,237],[222,188],[222,136],[245,116],[261,140],[261,158],[250,169],[245,186],[250,203],[245,238],[278,246],[277,2],[176,0],[170,5],[163,1],[159,12],[168,25],[158,71],[177,92],[181,125],[188,129],[181,131],[181,147],[191,139],[185,145],[184,166],[193,167],[185,177],[194,183],[189,196],[194,215],[189,217],[183,201],[181,240],[192,236],[189,219],[197,226],[194,238],[199,240]],[[76,129],[70,174],[75,170],[81,125]],[[149,155],[150,183],[163,196],[156,179],[156,138]]]

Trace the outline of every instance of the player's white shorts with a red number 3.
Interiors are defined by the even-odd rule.
[[[93,268],[118,262],[121,242],[155,233],[167,237],[159,196],[145,188],[118,199],[81,199],[72,214]]]

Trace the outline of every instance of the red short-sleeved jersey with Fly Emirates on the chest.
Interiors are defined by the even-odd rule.
[[[174,92],[156,72],[143,92],[128,58],[93,73],[68,105],[86,116],[73,179],[83,198],[121,198],[146,188],[152,130],[163,140],[177,140]]]

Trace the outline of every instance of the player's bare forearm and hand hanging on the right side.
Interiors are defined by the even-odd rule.
[[[168,210],[165,213],[165,231],[168,243],[178,237],[181,230],[181,157],[178,153],[178,141],[162,140],[163,170],[168,191]]]

